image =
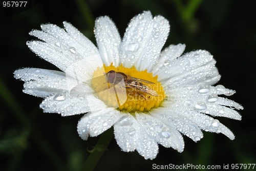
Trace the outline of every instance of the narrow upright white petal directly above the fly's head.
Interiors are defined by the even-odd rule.
[[[113,62],[119,66],[119,47],[121,38],[113,21],[108,16],[99,17],[95,21],[95,37],[101,58],[106,66]]]

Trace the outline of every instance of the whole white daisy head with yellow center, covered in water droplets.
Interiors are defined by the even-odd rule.
[[[145,159],[154,159],[158,144],[182,152],[182,134],[195,142],[203,137],[201,130],[234,139],[212,116],[241,120],[234,109],[243,107],[220,97],[235,91],[212,86],[220,75],[209,52],[182,55],[182,44],[161,51],[169,33],[164,17],[152,17],[148,11],[135,16],[122,40],[112,20],[99,17],[94,30],[98,48],[71,24],[63,25],[65,29],[41,25],[41,31],[30,35],[42,41],[27,42],[61,71],[24,68],[14,77],[25,81],[24,93],[44,98],[44,112],[85,114],[77,126],[83,140],[114,126],[122,151],[136,149]]]

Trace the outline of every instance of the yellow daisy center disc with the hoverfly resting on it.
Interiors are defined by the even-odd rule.
[[[99,99],[120,111],[148,112],[165,99],[157,76],[135,67],[104,65],[94,72],[91,84]]]

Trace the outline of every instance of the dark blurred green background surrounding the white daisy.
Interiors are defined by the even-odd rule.
[[[242,120],[218,118],[236,135],[231,141],[222,134],[206,133],[195,143],[187,137],[183,153],[160,146],[154,160],[137,152],[124,153],[113,139],[95,170],[152,170],[152,164],[221,165],[256,163],[255,157],[255,48],[256,1],[202,1],[189,14],[190,1],[28,1],[26,10],[3,8],[1,4],[0,77],[0,170],[80,170],[98,140],[83,141],[76,132],[82,115],[61,117],[44,114],[41,98],[22,93],[23,82],[13,78],[22,67],[57,70],[26,46],[40,24],[62,27],[66,20],[93,42],[94,19],[110,16],[123,36],[130,19],[143,10],[162,15],[170,22],[170,44],[186,44],[185,52],[206,49],[217,60],[220,84],[234,89],[229,97],[241,103]],[[192,4],[195,3],[192,2]],[[181,4],[181,7],[179,7]],[[31,7],[31,8],[29,8]],[[183,9],[183,10],[182,10]],[[256,166],[255,168],[256,169]]]

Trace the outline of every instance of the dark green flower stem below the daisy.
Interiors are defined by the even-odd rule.
[[[113,137],[114,137],[113,128],[106,130],[104,133],[101,134],[97,144],[95,145],[92,153],[86,160],[86,163],[84,163],[81,170],[91,171],[94,169],[94,167],[96,166],[101,156],[107,149]]]

